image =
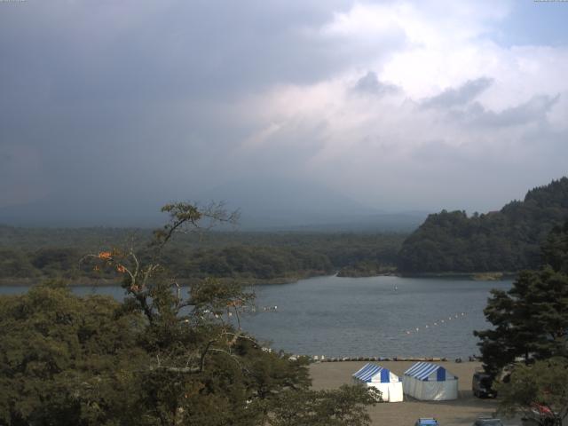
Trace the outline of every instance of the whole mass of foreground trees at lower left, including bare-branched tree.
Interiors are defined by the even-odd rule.
[[[0,296],[0,424],[365,426],[364,387],[310,390],[307,359],[266,351],[239,327],[252,295],[203,280],[182,296],[162,252],[222,210],[164,207],[170,222],[145,248],[87,257],[122,277],[125,299],[74,296],[54,280]]]

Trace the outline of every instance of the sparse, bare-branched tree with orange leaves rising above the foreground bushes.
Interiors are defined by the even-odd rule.
[[[184,288],[168,277],[162,264],[163,249],[176,233],[201,234],[216,225],[236,225],[239,211],[226,210],[222,202],[211,202],[204,207],[174,202],[163,206],[162,212],[169,214],[169,221],[154,231],[146,248],[137,250],[133,244],[128,248],[110,248],[84,256],[82,262],[94,259],[95,268],[110,267],[122,275],[122,288],[127,299],[144,313],[151,326],[159,329],[165,322],[170,331],[175,325],[182,327],[187,335],[207,329],[209,338],[197,347],[178,345],[175,351],[159,351],[152,369],[198,373],[205,367],[207,356],[215,352],[225,354],[239,364],[233,346],[239,339],[249,338],[241,331],[240,313],[252,303],[254,295],[235,283],[217,280],[193,283],[184,295]],[[235,321],[237,331],[233,332]],[[214,338],[210,334],[213,329],[217,330]],[[177,342],[183,340],[177,339]]]

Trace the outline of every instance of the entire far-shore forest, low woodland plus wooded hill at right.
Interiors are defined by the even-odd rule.
[[[463,210],[430,215],[411,233],[211,231],[179,235],[162,254],[172,278],[214,277],[241,283],[290,282],[338,273],[518,272],[540,264],[540,244],[568,217],[568,177],[536,187],[523,201],[471,216]],[[20,228],[0,225],[0,283],[64,278],[113,283],[113,271],[93,269],[85,253],[143,247],[138,228]],[[84,260],[84,259],[83,259]]]

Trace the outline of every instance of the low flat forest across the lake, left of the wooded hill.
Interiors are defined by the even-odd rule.
[[[87,251],[106,244],[123,246],[129,234],[143,246],[146,230],[83,230],[0,227],[0,279],[111,279],[107,268],[81,262]],[[373,274],[396,264],[403,234],[360,233],[209,233],[201,239],[181,236],[164,249],[169,270],[178,279],[296,280],[345,270]]]

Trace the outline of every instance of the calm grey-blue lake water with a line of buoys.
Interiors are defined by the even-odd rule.
[[[326,357],[447,357],[477,354],[475,329],[489,327],[483,309],[492,288],[511,280],[319,277],[255,287],[255,314],[242,327],[272,348]],[[2,287],[0,294],[27,291]],[[76,294],[122,288],[76,287]],[[264,312],[264,306],[278,306]],[[426,327],[428,326],[428,327]],[[418,328],[418,330],[417,330]]]

